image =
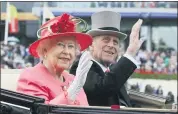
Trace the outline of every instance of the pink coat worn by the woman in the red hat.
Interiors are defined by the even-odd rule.
[[[63,86],[69,87],[74,76],[64,71],[61,74],[65,82],[60,82],[52,76],[46,67],[39,63],[34,67],[25,69],[18,80],[17,92],[37,96],[45,99],[46,104],[53,105],[83,105],[88,106],[88,101],[84,90],[82,89],[75,102],[67,99],[67,92]]]

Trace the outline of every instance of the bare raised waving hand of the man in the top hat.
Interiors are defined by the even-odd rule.
[[[129,46],[127,48],[126,54],[135,57],[136,53],[140,49],[142,43],[145,41],[144,38],[139,39],[139,32],[142,25],[143,20],[139,19],[132,27],[132,31],[130,34]]]

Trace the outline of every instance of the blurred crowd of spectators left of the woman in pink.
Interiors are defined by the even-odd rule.
[[[34,59],[28,48],[19,43],[4,44],[1,42],[1,69],[22,69],[33,66]]]

